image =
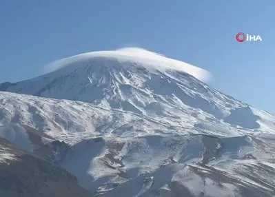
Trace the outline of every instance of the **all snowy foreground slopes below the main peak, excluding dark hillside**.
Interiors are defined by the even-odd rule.
[[[29,142],[29,126],[70,143],[72,147],[55,160],[96,195],[275,195],[275,120],[267,112],[241,110],[258,116],[256,123],[261,125],[243,129],[204,112],[164,118],[79,101],[0,93],[1,136],[14,143],[24,136],[22,140]],[[239,113],[232,111],[228,122],[243,118]],[[48,136],[43,139],[52,141]],[[22,143],[18,145],[33,145]]]

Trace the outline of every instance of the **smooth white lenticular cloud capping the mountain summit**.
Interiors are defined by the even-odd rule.
[[[192,76],[196,77],[196,79],[200,81],[210,81],[211,74],[207,72],[207,70],[203,70],[202,68],[198,68],[194,65],[190,65],[188,63],[184,63],[183,61],[178,61],[175,59],[170,59],[162,54],[157,54],[154,52],[150,52],[143,48],[121,48],[118,50],[111,51],[97,51],[97,52],[87,52],[84,54],[78,54],[76,56],[71,56],[65,59],[60,59],[58,61],[54,61],[45,66],[45,70],[47,72],[52,72],[54,70],[58,70],[59,68],[63,68],[66,65],[70,65],[76,61],[83,61],[88,59],[93,59],[96,57],[110,58],[110,59],[118,59],[119,61],[133,61],[137,63],[142,63],[148,69],[156,69],[156,70],[178,70],[182,72],[187,72]]]

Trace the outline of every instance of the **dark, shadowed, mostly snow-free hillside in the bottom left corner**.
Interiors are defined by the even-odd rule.
[[[92,196],[61,167],[0,138],[0,196]]]

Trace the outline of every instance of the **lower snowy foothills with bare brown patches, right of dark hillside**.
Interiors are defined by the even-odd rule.
[[[275,195],[274,151],[249,136],[94,138],[59,163],[99,196],[258,197]]]

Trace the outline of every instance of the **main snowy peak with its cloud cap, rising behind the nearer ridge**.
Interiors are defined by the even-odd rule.
[[[200,109],[223,118],[230,110],[246,106],[198,81],[207,78],[206,71],[145,50],[91,52],[51,65],[59,69],[27,81],[4,83],[0,91],[163,116],[194,108],[194,113]]]

